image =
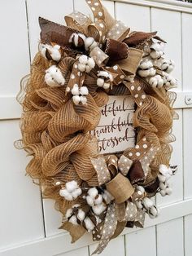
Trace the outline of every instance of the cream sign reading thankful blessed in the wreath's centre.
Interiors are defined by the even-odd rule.
[[[101,153],[121,152],[135,145],[133,128],[134,101],[131,96],[109,96],[101,109],[98,127],[91,131],[98,138]]]

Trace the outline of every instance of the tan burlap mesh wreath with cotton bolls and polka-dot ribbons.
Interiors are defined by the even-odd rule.
[[[124,227],[143,227],[158,210],[151,197],[169,195],[171,134],[177,81],[169,74],[164,40],[129,33],[99,0],[87,1],[94,23],[76,11],[67,26],[39,18],[40,51],[19,95],[21,140],[33,159],[27,173],[63,214],[72,242],[88,231],[101,253]],[[109,95],[131,95],[136,145],[117,154],[98,153],[89,131],[98,126]]]

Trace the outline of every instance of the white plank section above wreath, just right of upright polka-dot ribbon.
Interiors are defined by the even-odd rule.
[[[150,7],[116,2],[116,19],[127,24],[131,31],[150,31]]]

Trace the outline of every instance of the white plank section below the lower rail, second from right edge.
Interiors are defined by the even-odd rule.
[[[157,256],[183,256],[183,218],[157,225]]]

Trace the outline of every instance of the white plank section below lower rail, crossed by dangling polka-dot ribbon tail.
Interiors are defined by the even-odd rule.
[[[98,244],[89,245],[89,252],[93,254],[94,249],[96,249]],[[118,236],[116,239],[112,239],[107,247],[103,250],[103,253],[99,254],[101,256],[124,256],[124,236]]]

